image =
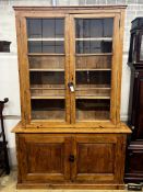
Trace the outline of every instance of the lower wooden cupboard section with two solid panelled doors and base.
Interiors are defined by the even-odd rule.
[[[17,188],[123,189],[126,134],[16,134]]]

